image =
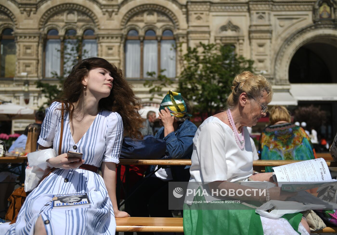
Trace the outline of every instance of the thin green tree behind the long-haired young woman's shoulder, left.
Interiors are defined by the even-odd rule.
[[[38,80],[36,82],[36,87],[40,88],[41,93],[44,94],[47,98],[47,101],[44,102],[41,107],[39,107],[40,111],[44,111],[45,108],[51,105],[53,100],[62,95],[62,85],[64,79],[68,76],[72,67],[82,60],[83,55],[88,53],[86,50],[84,50],[82,53],[81,48],[82,40],[76,39],[67,45],[65,44],[63,50],[58,50],[61,52],[61,56],[63,57],[63,73],[58,74],[56,72],[52,72],[52,78],[58,80],[57,84],[53,85],[42,80]]]

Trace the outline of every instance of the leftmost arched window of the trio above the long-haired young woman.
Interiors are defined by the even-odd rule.
[[[60,75],[61,40],[56,29],[48,31],[44,53],[44,77]]]

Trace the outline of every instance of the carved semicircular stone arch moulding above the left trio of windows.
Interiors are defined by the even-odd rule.
[[[49,10],[47,10],[46,12],[43,13],[43,15],[41,16],[40,20],[39,20],[39,24],[38,27],[42,28],[43,25],[45,24],[45,22],[56,12],[58,11],[66,11],[66,10],[78,10],[81,11],[85,14],[87,14],[95,23],[96,27],[99,27],[99,21],[97,16],[87,7],[84,7],[82,5],[79,4],[73,4],[73,3],[65,3],[65,4],[60,4],[57,6],[54,6],[52,8],[50,8]]]

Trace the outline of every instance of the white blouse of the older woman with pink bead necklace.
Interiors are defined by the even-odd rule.
[[[234,131],[220,119],[211,116],[199,126],[193,138],[190,182],[236,182],[252,175],[252,145],[243,128],[245,147],[241,150]]]

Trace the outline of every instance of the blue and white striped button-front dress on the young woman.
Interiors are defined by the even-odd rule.
[[[38,143],[58,152],[61,127],[61,104],[54,102],[47,110]],[[83,153],[84,164],[99,167],[102,162],[119,163],[123,123],[116,112],[100,111],[78,143],[74,143],[69,114],[64,113],[62,153]],[[89,208],[65,211],[52,209],[56,194],[88,193]],[[26,198],[16,224],[8,234],[33,234],[36,219],[42,216],[47,234],[115,234],[116,220],[112,202],[102,177],[84,169],[56,169]]]

